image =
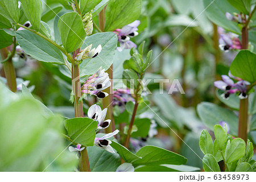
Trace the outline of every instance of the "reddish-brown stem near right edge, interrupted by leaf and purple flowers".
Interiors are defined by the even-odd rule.
[[[250,21],[250,19],[248,20]],[[242,49],[247,49],[247,48],[248,48],[248,28],[246,25],[245,27],[242,28]],[[239,119],[238,119],[238,137],[245,140],[245,143],[247,142],[247,122],[248,122],[248,97],[240,100]]]

